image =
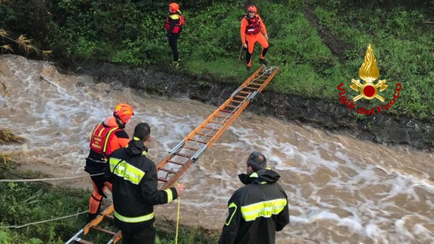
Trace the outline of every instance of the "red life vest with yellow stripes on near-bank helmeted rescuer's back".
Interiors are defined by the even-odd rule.
[[[111,148],[110,141],[115,137],[115,132],[119,127],[105,127],[102,123],[95,126],[90,138],[90,150],[95,153],[100,153],[102,158],[106,161],[107,157],[117,148]]]

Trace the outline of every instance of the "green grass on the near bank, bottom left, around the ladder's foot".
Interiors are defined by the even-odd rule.
[[[4,168],[2,168],[3,170]],[[34,173],[32,173],[34,175]],[[0,177],[3,179],[3,177]],[[41,183],[0,183],[0,222],[1,226],[23,225],[87,210],[90,192],[81,189],[53,188]],[[0,228],[0,244],[61,244],[65,243],[85,224],[87,215],[62,220],[29,225],[23,228]],[[112,224],[105,223],[103,228],[115,230]],[[156,227],[157,244],[173,244],[173,231]],[[201,228],[180,227],[178,243],[211,244],[217,243],[217,234]],[[109,235],[91,231],[85,239],[94,243],[106,243]]]

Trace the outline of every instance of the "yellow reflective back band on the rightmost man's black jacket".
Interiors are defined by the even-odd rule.
[[[285,198],[263,201],[241,207],[241,215],[245,221],[253,221],[258,217],[270,218],[279,214],[286,206]]]

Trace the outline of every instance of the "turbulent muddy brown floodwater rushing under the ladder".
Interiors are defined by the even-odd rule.
[[[0,124],[29,139],[0,146],[24,168],[80,176],[92,127],[119,102],[135,108],[127,128],[151,125],[149,158],[157,161],[214,106],[188,99],[112,90],[92,78],[59,74],[46,62],[0,56]],[[42,77],[42,78],[41,78]],[[278,243],[434,244],[433,155],[380,146],[244,112],[180,178],[187,185],[181,223],[221,229],[237,174],[253,150],[281,175],[291,223]],[[83,178],[77,186],[89,187]],[[156,208],[175,219],[176,203]],[[72,233],[71,233],[72,234]]]

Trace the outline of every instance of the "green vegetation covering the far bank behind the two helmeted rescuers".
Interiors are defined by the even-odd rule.
[[[239,20],[245,1],[179,1],[186,19],[178,46],[182,69],[216,80],[243,81],[244,53],[240,50]],[[28,33],[36,44],[53,49],[56,59],[93,59],[130,65],[168,67],[171,50],[161,42],[166,2],[146,0],[10,0],[1,3],[0,27],[13,34]],[[280,70],[268,89],[338,102],[336,86],[358,78],[371,43],[380,79],[389,85],[381,96],[389,100],[396,83],[402,91],[388,111],[433,118],[434,24],[432,1],[404,0],[257,0],[270,36],[267,59]],[[431,19],[430,19],[431,18]],[[4,26],[4,27],[3,27]],[[1,29],[0,28],[0,29]],[[322,31],[332,39],[321,36]],[[327,43],[327,44],[325,44]],[[330,43],[342,44],[343,55]],[[333,46],[333,45],[331,45]],[[259,67],[260,46],[253,54]],[[379,101],[364,101],[378,106]]]

